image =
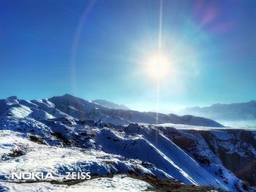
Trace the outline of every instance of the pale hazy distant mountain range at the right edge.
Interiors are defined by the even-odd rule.
[[[256,120],[256,101],[213,104],[211,107],[187,107],[178,114],[197,115],[213,120]]]

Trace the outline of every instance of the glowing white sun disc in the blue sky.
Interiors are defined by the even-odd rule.
[[[146,59],[146,72],[156,80],[167,76],[170,71],[170,59],[162,53],[155,53]]]

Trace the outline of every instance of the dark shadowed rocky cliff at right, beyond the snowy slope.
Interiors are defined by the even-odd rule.
[[[223,166],[245,183],[251,186],[256,185],[255,131],[189,130],[186,133],[189,135],[176,134],[176,137],[170,137],[169,134],[167,137],[197,159],[200,164],[208,165],[211,162],[221,161]]]

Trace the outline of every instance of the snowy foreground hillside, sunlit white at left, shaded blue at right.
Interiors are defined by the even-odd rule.
[[[72,129],[72,131],[75,130]],[[78,134],[75,135],[80,135],[80,131],[85,130],[77,128],[76,131]],[[173,128],[169,131],[182,134]],[[15,149],[22,150],[24,155],[16,158],[7,156],[3,158],[4,161],[0,161],[0,181],[4,183],[4,186],[13,188],[15,191],[16,184],[7,183],[7,181],[12,181],[10,172],[51,172],[55,180],[63,180],[59,177],[59,173],[65,172],[91,172],[99,175],[138,172],[141,175],[156,175],[159,178],[176,178],[186,184],[210,185],[223,190],[235,191],[233,183],[238,181],[236,176],[226,171],[221,165],[202,166],[198,164],[195,159],[152,126],[131,124],[124,127],[122,131],[94,127],[86,128],[86,133],[87,135],[95,134],[95,137],[90,137],[88,141],[91,146],[94,146],[93,148],[39,145],[26,139],[22,133],[1,130],[1,156],[4,157]],[[215,174],[219,167],[224,170],[225,178],[229,183],[225,183],[222,177]],[[105,185],[110,185],[110,183]],[[19,186],[26,188],[26,185]],[[64,188],[64,186],[59,188],[55,185],[50,185],[50,187],[48,185],[50,184],[33,184],[31,188],[50,188],[51,190]],[[74,185],[74,188],[88,187],[80,185],[82,184]]]

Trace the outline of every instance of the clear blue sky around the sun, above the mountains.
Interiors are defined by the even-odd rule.
[[[143,63],[159,2],[1,1],[1,98],[70,93],[135,110],[256,99],[256,1],[162,1],[170,74],[157,89]]]

